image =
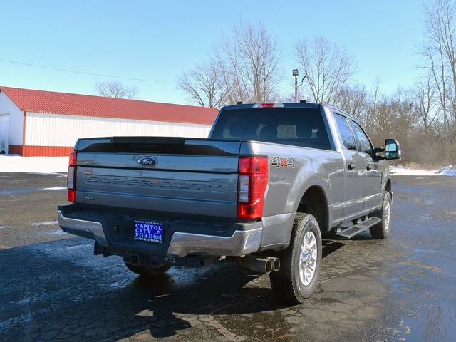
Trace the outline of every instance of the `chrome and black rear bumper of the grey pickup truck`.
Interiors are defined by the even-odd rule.
[[[165,239],[167,241],[162,246],[156,246],[128,239],[127,234],[121,239],[115,237],[110,227],[117,222],[118,227],[122,227],[125,219],[121,215],[113,217],[112,214],[106,214],[107,217],[103,217],[103,213],[97,212],[93,218],[88,219],[87,214],[71,211],[66,213],[65,209],[66,207],[58,208],[58,223],[64,232],[93,239],[102,247],[167,257],[186,257],[190,254],[242,256],[259,250],[263,234],[261,222],[232,224],[225,229],[224,234],[220,233],[217,224],[212,230],[218,234],[208,234],[207,231],[211,230],[208,222],[173,222],[171,234]],[[113,224],[113,221],[116,223]],[[206,233],[195,233],[195,227],[199,226],[204,227]]]

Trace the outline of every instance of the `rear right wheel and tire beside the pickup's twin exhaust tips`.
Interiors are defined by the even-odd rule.
[[[287,304],[309,298],[318,285],[321,266],[321,232],[311,214],[296,214],[290,245],[277,252],[279,271],[269,274],[271,287]]]

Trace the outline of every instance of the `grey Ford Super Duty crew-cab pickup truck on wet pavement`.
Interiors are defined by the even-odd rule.
[[[318,284],[321,234],[388,237],[385,159],[399,157],[396,140],[374,148],[329,105],[238,103],[207,139],[78,140],[58,222],[142,276],[234,261],[299,303]]]

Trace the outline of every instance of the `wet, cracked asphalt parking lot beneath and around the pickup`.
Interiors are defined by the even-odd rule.
[[[0,174],[1,341],[455,341],[456,178],[393,177],[393,234],[325,239],[321,283],[277,301],[233,264],[147,281],[61,232],[65,175]]]

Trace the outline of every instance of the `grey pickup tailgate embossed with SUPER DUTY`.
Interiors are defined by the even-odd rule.
[[[237,216],[241,142],[94,138],[76,145],[76,203],[168,217]],[[157,160],[141,165],[142,157]]]

